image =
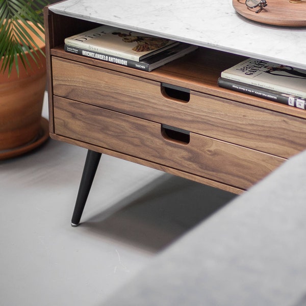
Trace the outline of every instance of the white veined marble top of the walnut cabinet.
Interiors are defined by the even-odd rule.
[[[232,0],[67,0],[50,10],[306,69],[306,27],[248,20],[235,11]]]

